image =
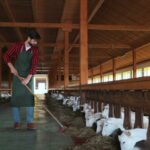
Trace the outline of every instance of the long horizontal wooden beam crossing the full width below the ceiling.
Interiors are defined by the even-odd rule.
[[[79,24],[71,23],[46,23],[46,22],[0,22],[0,27],[20,27],[20,28],[47,28],[47,29],[57,29],[57,28],[71,28],[79,29]],[[131,32],[150,32],[150,26],[148,25],[113,25],[113,24],[88,24],[89,30],[99,30],[99,31],[131,31]]]

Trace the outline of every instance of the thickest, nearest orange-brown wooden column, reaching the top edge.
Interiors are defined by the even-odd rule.
[[[88,83],[88,0],[80,0],[80,84]]]

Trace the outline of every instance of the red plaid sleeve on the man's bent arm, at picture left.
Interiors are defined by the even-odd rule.
[[[16,58],[20,48],[21,48],[20,43],[16,43],[12,47],[8,48],[8,50],[5,52],[5,54],[3,56],[4,61],[5,61],[6,64],[11,62],[12,58]]]

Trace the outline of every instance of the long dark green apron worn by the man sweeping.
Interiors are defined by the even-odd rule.
[[[21,51],[15,62],[15,68],[18,71],[19,76],[26,78],[29,74],[32,65],[32,53],[31,51]],[[30,89],[32,86],[32,79],[27,85]],[[33,107],[34,96],[26,89],[21,81],[14,76],[12,85],[12,107]]]

